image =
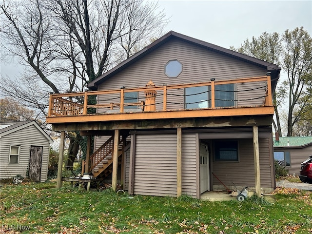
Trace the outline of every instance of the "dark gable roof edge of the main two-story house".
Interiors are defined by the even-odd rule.
[[[165,34],[161,38],[157,39],[156,41],[154,41],[150,45],[146,46],[144,49],[137,52],[135,55],[133,55],[129,59],[124,60],[123,62],[119,63],[116,67],[112,68],[111,70],[107,71],[106,73],[99,76],[95,80],[91,81],[87,85],[87,87],[90,90],[97,90],[98,86],[102,82],[104,82],[108,78],[114,76],[119,71],[130,66],[131,64],[133,64],[137,60],[142,59],[144,56],[153,52],[158,47],[165,44],[166,42],[168,42],[171,39],[179,39],[179,40],[182,40],[184,42],[191,43],[191,44],[194,44],[196,46],[202,47],[204,49],[211,50],[211,51],[214,51],[216,53],[226,55],[226,56],[229,56],[231,58],[238,59],[238,60],[241,60],[241,61],[244,61],[247,63],[251,63],[253,65],[267,69],[267,72],[271,72],[272,92],[274,92],[276,84],[277,84],[277,80],[279,78],[279,73],[281,70],[281,68],[279,66],[272,64],[272,63],[269,63],[269,62],[266,62],[266,61],[263,61],[263,60],[260,60],[260,59],[255,59],[254,57],[247,56],[247,55],[235,52],[235,51],[230,50],[230,49],[223,48],[221,46],[217,46],[217,45],[214,45],[214,44],[211,44],[211,43],[199,40],[199,39],[191,38],[191,37],[188,37],[186,35],[176,33],[174,31],[168,32],[167,34]]]

